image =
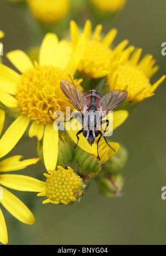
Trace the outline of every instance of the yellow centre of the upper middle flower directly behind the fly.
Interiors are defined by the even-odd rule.
[[[83,57],[84,65],[80,66],[79,71],[93,77],[97,70],[108,70],[113,52],[105,44],[95,40],[87,41],[87,47]],[[92,63],[92,66],[90,65]]]

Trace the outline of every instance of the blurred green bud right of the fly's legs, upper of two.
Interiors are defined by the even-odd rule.
[[[117,173],[122,170],[126,165],[128,158],[128,151],[124,146],[120,146],[120,149],[115,156],[111,157],[102,167],[103,172],[108,175]]]

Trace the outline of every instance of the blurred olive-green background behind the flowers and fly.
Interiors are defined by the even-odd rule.
[[[165,0],[128,0],[114,21],[104,26],[105,32],[118,29],[116,44],[129,39],[130,44],[143,48],[143,55],[153,54],[160,69],[152,83],[166,73],[166,56],[161,54],[166,41],[165,9]],[[33,45],[22,8],[1,0],[0,13],[0,29],[6,34],[4,54]],[[9,64],[6,58],[4,63]],[[9,244],[165,244],[166,201],[161,199],[161,188],[166,186],[165,95],[166,81],[113,133],[112,139],[129,152],[122,171],[126,181],[121,198],[102,197],[94,181],[80,203],[72,206],[43,205],[44,198],[37,198],[36,193],[12,191],[32,210],[36,222],[25,225],[3,209]],[[20,141],[8,155],[15,154],[37,156],[34,140]],[[38,163],[18,173],[45,181],[43,172]]]

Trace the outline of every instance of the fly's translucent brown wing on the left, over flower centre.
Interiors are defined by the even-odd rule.
[[[84,105],[87,105],[87,99],[82,91],[70,81],[62,79],[60,82],[60,88],[66,97],[71,101],[72,105],[80,111],[84,112]]]

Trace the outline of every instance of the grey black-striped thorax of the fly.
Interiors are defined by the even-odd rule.
[[[84,130],[94,130],[96,128],[97,130],[100,130],[101,125],[101,116],[99,111],[85,111],[84,112],[84,120],[83,120],[83,126]]]

